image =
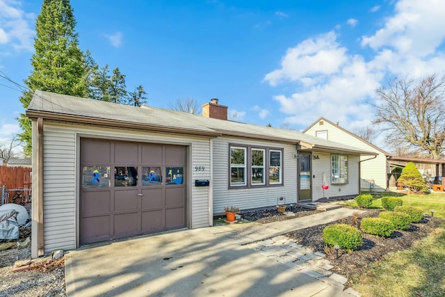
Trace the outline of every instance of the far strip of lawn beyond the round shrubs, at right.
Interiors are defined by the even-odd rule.
[[[431,214],[431,209],[434,209],[434,216],[445,219],[445,193],[431,193],[426,195],[401,195],[397,193],[374,193],[374,200],[372,208],[381,209],[381,198],[384,196],[400,197],[403,200],[403,205],[417,207],[425,214]],[[346,205],[357,207],[355,201],[347,201]]]

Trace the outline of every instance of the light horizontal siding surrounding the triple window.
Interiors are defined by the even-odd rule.
[[[282,166],[284,186],[229,188],[229,144],[283,149]],[[286,198],[286,203],[296,203],[297,160],[293,158],[293,154],[295,153],[295,145],[289,143],[254,141],[247,138],[219,137],[214,139],[213,214],[223,213],[225,206],[235,206],[241,210],[273,207],[277,205],[277,199],[280,197]]]

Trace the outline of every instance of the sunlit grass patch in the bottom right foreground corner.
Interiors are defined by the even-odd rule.
[[[445,296],[445,230],[417,241],[410,250],[391,252],[374,263],[353,288],[363,297]]]

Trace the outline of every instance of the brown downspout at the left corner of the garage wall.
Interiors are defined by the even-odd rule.
[[[37,168],[38,168],[38,194],[37,194],[37,247],[38,256],[44,255],[43,240],[43,118],[37,119]]]

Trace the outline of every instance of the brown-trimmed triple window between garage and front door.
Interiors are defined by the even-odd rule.
[[[283,150],[230,145],[229,153],[229,187],[250,188],[283,184]]]

